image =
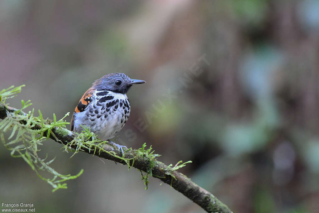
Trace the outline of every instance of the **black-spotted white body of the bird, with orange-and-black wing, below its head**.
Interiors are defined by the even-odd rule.
[[[102,140],[114,138],[130,116],[130,103],[127,95],[107,90],[95,90],[89,91],[84,96],[82,98],[84,103],[80,101],[80,106],[78,105],[74,113],[74,131],[82,131],[81,126],[85,125]]]

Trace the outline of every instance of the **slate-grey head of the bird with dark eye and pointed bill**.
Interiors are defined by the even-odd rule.
[[[133,84],[143,84],[144,80],[130,79],[124,73],[110,73],[93,83],[97,90],[109,90],[116,93],[125,94]]]

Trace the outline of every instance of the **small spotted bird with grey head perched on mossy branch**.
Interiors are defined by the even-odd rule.
[[[70,122],[71,131],[81,133],[86,126],[100,139],[115,145],[123,155],[123,148],[127,147],[111,139],[130,116],[130,102],[126,93],[132,85],[143,83],[144,80],[130,79],[126,74],[118,72],[95,80],[75,107]]]

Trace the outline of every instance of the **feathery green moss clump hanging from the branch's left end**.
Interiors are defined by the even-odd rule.
[[[8,89],[1,90],[0,104],[5,106],[5,100],[19,93],[21,91],[21,87],[23,86],[24,85],[15,88],[12,86]],[[83,170],[81,170],[77,175],[73,176],[70,174],[63,175],[58,173],[52,167],[50,167],[50,164],[54,161],[54,158],[49,161],[47,161],[47,157],[42,159],[38,155],[40,151],[38,147],[42,145],[43,140],[49,139],[50,134],[53,135],[53,128],[59,129],[60,127],[64,127],[66,124],[68,124],[68,122],[64,121],[63,119],[69,114],[67,113],[58,121],[56,120],[55,115],[53,115],[54,121],[49,122],[48,120],[43,120],[40,110],[38,117],[34,116],[34,109],[29,111],[27,114],[22,112],[22,110],[31,105],[30,100],[27,102],[22,100],[21,104],[21,109],[7,113],[7,117],[0,122],[0,137],[4,147],[11,151],[11,156],[23,158],[42,180],[46,181],[53,187],[53,192],[60,188],[67,188],[66,183],[62,182],[77,178],[83,173]],[[40,129],[38,127],[40,127]],[[60,130],[62,133],[62,128],[60,128]],[[9,138],[7,139],[8,141],[6,141],[4,138],[4,132],[7,131],[11,131]],[[43,137],[45,133],[47,134],[47,137]],[[47,174],[51,175],[51,177],[45,178],[41,176],[39,173],[41,170],[47,171]]]

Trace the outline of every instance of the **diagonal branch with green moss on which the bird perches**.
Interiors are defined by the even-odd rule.
[[[2,95],[2,99],[3,97],[4,95]],[[0,93],[0,98],[1,98],[1,93]],[[29,104],[28,102],[26,103],[22,102],[22,105],[23,105],[22,109],[25,109],[25,107],[28,104]],[[86,152],[88,154],[92,154],[101,158],[115,161],[117,163],[126,164],[128,168],[130,167],[137,168],[138,170],[142,172],[142,179],[145,181],[146,188],[148,183],[148,177],[152,176],[162,180],[164,183],[169,184],[175,190],[181,192],[190,200],[197,203],[201,208],[203,208],[207,212],[225,212],[225,213],[232,212],[224,203],[219,201],[213,194],[203,189],[202,187],[198,186],[196,183],[192,182],[188,177],[186,177],[182,173],[176,171],[177,169],[185,166],[186,163],[190,163],[190,162],[180,164],[182,163],[180,161],[174,167],[172,167],[172,164],[167,166],[163,164],[162,162],[156,160],[156,157],[158,157],[159,155],[154,154],[153,153],[154,151],[151,151],[152,150],[151,147],[149,149],[145,149],[146,147],[145,144],[143,145],[142,148],[135,149],[135,150],[134,149],[127,150],[125,152],[125,155],[122,156],[121,152],[117,151],[117,149],[109,145],[107,141],[94,140],[94,134],[91,133],[89,130],[85,130],[83,133],[80,133],[80,134],[73,133],[63,127],[66,124],[66,122],[63,122],[63,119],[56,121],[55,115],[54,115],[53,121],[49,119],[45,120],[42,118],[41,112],[39,111],[40,116],[34,119],[35,118],[33,116],[34,110],[26,114],[22,111],[22,109],[15,109],[15,108],[9,107],[6,104],[4,104],[3,100],[2,100],[2,103],[0,103],[0,118],[3,119],[3,121],[1,122],[3,124],[3,128],[1,129],[1,126],[0,126],[0,129],[1,129],[1,132],[3,132],[5,131],[4,128],[7,128],[7,129],[12,128],[13,130],[9,138],[12,138],[13,135],[15,135],[15,132],[17,131],[17,129],[19,128],[19,127],[15,127],[15,126],[18,126],[16,123],[14,124],[14,122],[18,122],[21,127],[18,130],[18,133],[17,133],[18,135],[19,134],[21,135],[22,134],[21,131],[25,129],[30,130],[31,136],[26,138],[26,140],[24,140],[24,143],[26,143],[25,141],[29,141],[30,143],[29,146],[37,146],[38,144],[37,140],[41,141],[43,139],[51,138],[52,140],[56,142],[63,143],[64,149],[66,151],[70,150],[70,148],[74,149],[75,150],[74,154],[78,153],[79,151],[82,151],[82,152]],[[17,119],[17,117],[19,119]],[[5,120],[6,120],[6,123],[4,122]],[[40,136],[36,134],[40,134]],[[16,138],[19,138],[18,135]],[[1,134],[1,140],[4,142],[3,134]],[[5,142],[4,144],[7,148],[10,145]],[[21,148],[24,147],[24,149],[27,150],[26,148],[29,148],[27,147],[27,145],[28,144],[25,144],[25,146],[11,148],[11,154],[12,152],[13,153],[18,152],[19,157],[26,158],[25,159],[26,162],[28,162],[31,168],[36,171],[36,173],[40,176],[41,179],[44,179],[48,181],[48,183],[50,183],[51,185],[52,184],[54,185],[54,190],[58,188],[65,188],[66,185],[65,184],[61,185],[60,182],[63,182],[69,179],[74,179],[83,172],[83,171],[80,171],[79,174],[75,176],[61,175],[48,166],[48,164],[50,164],[52,160],[49,162],[43,163],[44,160],[41,159],[39,156],[37,156],[36,152],[29,153],[26,151],[25,154],[23,154],[21,152],[22,150]],[[41,164],[37,165],[37,163],[39,162],[41,162]],[[43,178],[38,172],[38,170],[43,170],[43,169],[54,174],[55,175],[54,178],[53,179]],[[144,175],[143,175],[143,172],[145,172]],[[55,180],[57,177],[59,177],[60,180]]]

